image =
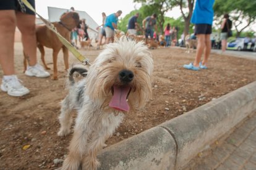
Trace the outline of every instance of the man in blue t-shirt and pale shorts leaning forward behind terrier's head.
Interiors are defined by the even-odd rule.
[[[105,22],[106,44],[108,44],[109,41],[114,42],[114,29],[117,29],[118,17],[120,17],[121,14],[122,14],[122,10],[118,10],[116,13],[113,13],[111,15],[108,15],[108,17],[106,17],[106,22]]]

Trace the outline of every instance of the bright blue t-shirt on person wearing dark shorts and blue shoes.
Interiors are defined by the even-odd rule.
[[[197,0],[192,14],[191,23],[213,24],[213,4],[215,0]]]

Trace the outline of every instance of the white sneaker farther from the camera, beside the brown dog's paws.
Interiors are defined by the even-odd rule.
[[[27,70],[25,71],[25,75],[36,76],[37,78],[47,78],[50,76],[50,74],[38,63],[36,63],[36,65],[33,67],[28,66]]]

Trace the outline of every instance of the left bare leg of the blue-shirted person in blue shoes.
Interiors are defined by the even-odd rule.
[[[199,67],[199,63],[205,49],[205,34],[197,34],[197,52],[195,54],[195,60],[193,65]]]

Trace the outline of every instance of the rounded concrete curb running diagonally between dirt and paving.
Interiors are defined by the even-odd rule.
[[[256,81],[104,149],[100,169],[181,169],[255,110]]]

